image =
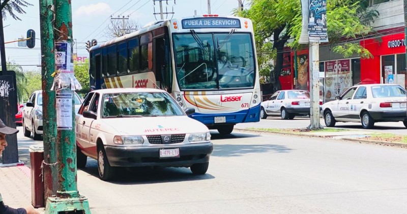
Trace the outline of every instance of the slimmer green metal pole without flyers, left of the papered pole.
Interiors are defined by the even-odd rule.
[[[56,195],[58,188],[56,165],[56,118],[55,118],[55,91],[51,91],[55,70],[54,62],[54,33],[53,0],[40,0],[40,30],[41,30],[41,74],[42,74],[42,105],[44,127],[44,201]]]

